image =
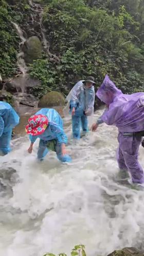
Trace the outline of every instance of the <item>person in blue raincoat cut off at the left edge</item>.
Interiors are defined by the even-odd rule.
[[[20,117],[10,104],[0,101],[0,151],[7,155],[10,152],[12,129],[19,124]]]

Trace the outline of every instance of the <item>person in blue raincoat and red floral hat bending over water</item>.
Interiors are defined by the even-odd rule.
[[[65,144],[67,136],[63,130],[63,121],[55,109],[41,109],[31,116],[26,126],[31,141],[28,152],[31,153],[34,142],[39,138],[38,159],[43,160],[49,150],[55,151],[61,162],[70,162]]]

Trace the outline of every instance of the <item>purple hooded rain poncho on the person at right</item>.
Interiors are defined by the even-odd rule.
[[[144,130],[144,93],[123,94],[106,75],[96,95],[109,106],[101,116],[104,123],[120,132]]]

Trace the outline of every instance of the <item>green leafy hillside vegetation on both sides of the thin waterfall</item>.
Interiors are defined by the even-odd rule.
[[[94,76],[99,87],[106,73],[124,93],[143,91],[144,0],[37,3],[44,8],[42,21],[49,50],[44,49],[43,58],[29,66],[30,75],[41,80],[41,86],[32,89],[35,96],[40,98],[52,90],[67,94],[77,80],[87,75]],[[23,26],[29,36],[32,10],[28,0],[0,0],[0,5],[0,73],[8,78],[17,72],[19,48],[11,21]],[[34,29],[35,35],[40,35],[40,27]]]

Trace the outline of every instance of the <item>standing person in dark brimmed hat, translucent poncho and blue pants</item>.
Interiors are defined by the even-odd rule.
[[[94,113],[94,84],[94,77],[87,77],[85,80],[76,83],[67,96],[75,139],[80,139],[81,126],[84,132],[88,131],[87,116],[91,116]]]

